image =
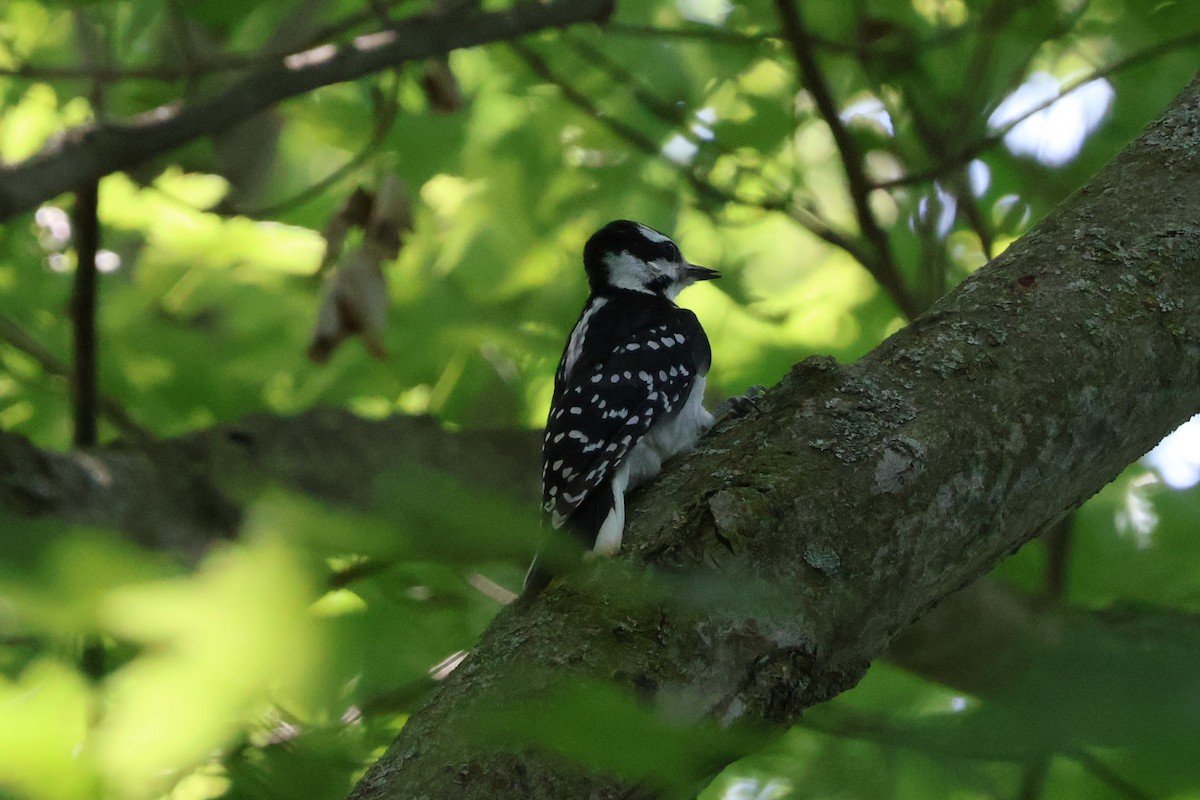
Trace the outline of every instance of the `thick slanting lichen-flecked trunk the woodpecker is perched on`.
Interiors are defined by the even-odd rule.
[[[910,327],[853,366],[797,365],[719,425],[635,500],[618,563],[502,613],[353,796],[654,796],[475,735],[564,680],[679,723],[779,726],[853,686],[1196,413],[1198,267],[1200,79]]]

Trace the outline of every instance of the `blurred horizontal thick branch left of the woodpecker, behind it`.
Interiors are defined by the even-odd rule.
[[[0,431],[0,507],[113,528],[156,549],[203,553],[229,539],[247,497],[278,486],[370,507],[388,469],[437,471],[535,507],[532,431],[448,434],[431,417],[364,420],[334,409],[257,414],[178,439],[53,453]],[[533,513],[530,511],[530,513]]]

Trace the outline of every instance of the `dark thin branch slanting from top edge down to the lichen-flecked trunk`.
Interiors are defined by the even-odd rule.
[[[804,84],[812,95],[826,125],[829,126],[829,132],[841,156],[842,170],[846,174],[850,198],[854,204],[858,224],[875,251],[874,258],[863,261],[863,266],[883,287],[900,312],[912,319],[920,312],[920,308],[913,301],[908,288],[900,277],[900,271],[896,269],[892,249],[888,246],[887,233],[875,218],[875,211],[870,203],[871,185],[863,170],[863,155],[859,152],[858,143],[854,142],[846,125],[841,121],[838,103],[812,54],[812,41],[793,0],[775,0],[775,7],[784,26],[784,35],[792,46],[792,55],[804,74]]]

